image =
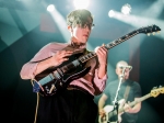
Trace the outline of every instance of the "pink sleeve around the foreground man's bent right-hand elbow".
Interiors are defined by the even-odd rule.
[[[98,70],[95,69],[95,77],[94,77],[94,80],[93,80],[93,85],[94,85],[94,88],[95,88],[95,93],[94,93],[95,96],[98,96],[104,91],[104,89],[106,87],[107,78],[108,78],[108,76],[106,74],[102,79],[99,79],[98,78]]]

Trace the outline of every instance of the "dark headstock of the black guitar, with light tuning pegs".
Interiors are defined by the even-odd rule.
[[[141,27],[138,31],[139,31],[139,33],[144,33],[144,34],[148,34],[148,35],[150,35],[152,33],[154,35],[155,32],[160,32],[161,29],[157,25],[153,24],[153,25],[150,25],[150,26]]]

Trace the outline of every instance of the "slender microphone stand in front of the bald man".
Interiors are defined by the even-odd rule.
[[[122,74],[119,76],[119,83],[118,83],[118,88],[117,88],[115,100],[114,100],[114,111],[117,112],[116,116],[114,116],[114,121],[117,121],[117,123],[119,123],[119,121],[118,121],[118,109],[119,109],[118,93],[119,93],[119,90],[120,90],[120,83],[122,82],[122,79],[125,77],[125,70],[126,70],[126,67],[122,68]]]

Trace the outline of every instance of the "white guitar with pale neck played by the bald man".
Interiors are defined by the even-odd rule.
[[[141,102],[141,101],[144,101],[145,99],[148,98],[151,98],[151,97],[157,97],[160,93],[164,93],[164,87],[154,87],[150,93],[141,97],[139,100],[137,101],[133,101],[131,103],[129,103],[129,105],[132,108],[133,105],[136,105],[137,103]],[[125,104],[125,100],[121,99],[118,101],[118,103],[120,104],[119,105],[119,109],[118,109],[118,122],[120,123],[121,122],[121,114],[127,110],[124,108],[124,104]],[[117,111],[114,110],[114,105],[106,105],[104,107],[104,111],[106,112],[104,116],[98,116],[98,123],[118,123],[117,121],[112,121],[110,119],[113,116],[116,116],[117,114]]]

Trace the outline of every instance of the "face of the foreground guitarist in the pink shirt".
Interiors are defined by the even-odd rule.
[[[85,44],[89,40],[90,33],[92,30],[92,20],[89,19],[89,21],[85,23],[84,26],[77,25],[75,27],[72,27],[72,40],[77,44]]]

